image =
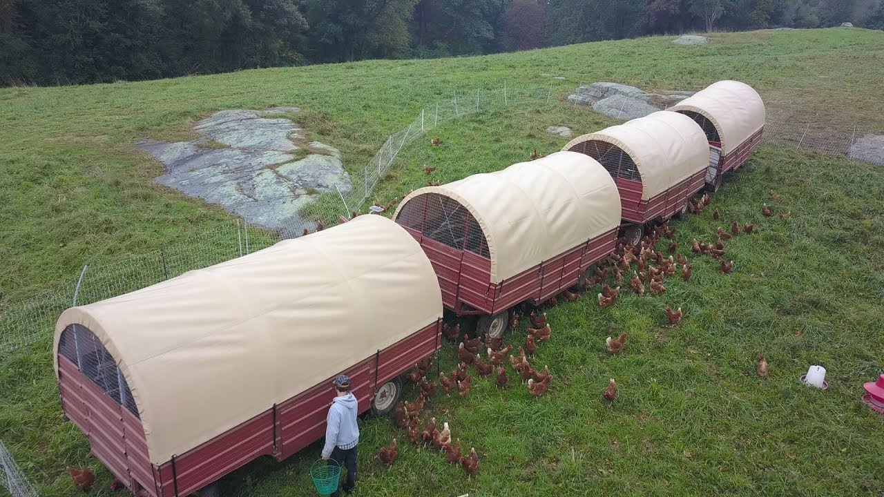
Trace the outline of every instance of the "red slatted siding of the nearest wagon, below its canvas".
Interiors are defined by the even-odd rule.
[[[352,378],[360,413],[370,409],[376,384],[380,386],[398,377],[438,350],[440,326],[440,322],[428,325],[379,351],[377,357],[371,355],[344,371]],[[173,471],[171,461],[159,467],[149,462],[147,441],[138,417],[104,394],[76,364],[60,354],[58,368],[62,409],[86,434],[92,453],[128,488],[143,488],[154,497],[176,495],[176,483],[178,495],[194,493],[261,455],[282,460],[322,439],[332,398],[328,378],[214,440],[176,456]]]

